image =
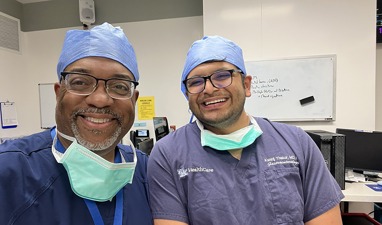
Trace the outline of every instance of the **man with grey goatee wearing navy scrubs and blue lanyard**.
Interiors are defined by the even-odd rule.
[[[118,143],[139,95],[122,29],[68,31],[57,74],[57,127],[0,145],[0,224],[152,224],[147,155]]]

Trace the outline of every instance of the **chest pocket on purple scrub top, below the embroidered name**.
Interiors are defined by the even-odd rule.
[[[299,222],[304,218],[303,186],[299,168],[264,171],[278,223]]]

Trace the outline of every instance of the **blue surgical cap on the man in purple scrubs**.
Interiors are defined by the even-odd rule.
[[[238,45],[220,36],[203,37],[201,40],[194,42],[187,53],[180,82],[180,89],[185,96],[186,86],[183,84],[183,81],[187,78],[188,73],[199,64],[209,60],[224,60],[237,66],[244,74],[247,74],[244,66],[243,51]]]

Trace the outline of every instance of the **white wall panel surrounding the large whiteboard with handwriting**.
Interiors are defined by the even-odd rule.
[[[375,128],[375,0],[204,0],[203,8],[204,34],[233,40],[244,60],[337,54],[337,120],[291,124],[328,131]],[[219,17],[231,8],[257,10],[240,23]],[[233,24],[244,34],[232,32]]]

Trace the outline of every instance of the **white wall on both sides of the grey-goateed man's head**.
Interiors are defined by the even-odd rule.
[[[140,96],[155,97],[155,115],[176,128],[188,123],[188,102],[180,78],[191,44],[203,37],[202,16],[113,24],[121,26],[138,60]],[[39,83],[55,83],[63,28],[26,32],[23,55],[0,51],[0,101],[17,103],[18,128],[1,129],[0,137],[41,132]],[[137,117],[138,118],[138,117]]]

